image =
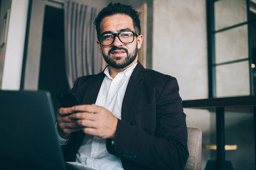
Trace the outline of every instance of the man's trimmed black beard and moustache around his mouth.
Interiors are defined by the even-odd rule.
[[[112,58],[110,57],[110,53],[114,50],[124,50],[127,53],[127,57],[125,57],[125,59],[122,63],[117,63],[117,62],[115,62],[115,60],[112,60]],[[131,55],[128,55],[128,50],[126,48],[114,46],[114,47],[112,47],[112,49],[110,49],[110,51],[108,52],[108,55],[105,55],[102,52],[102,56],[103,56],[105,62],[107,62],[107,64],[110,67],[113,67],[115,69],[123,69],[124,67],[127,67],[127,66],[129,66],[129,64],[132,64],[132,62],[134,62],[134,60],[137,57],[137,52],[138,52],[137,46]]]

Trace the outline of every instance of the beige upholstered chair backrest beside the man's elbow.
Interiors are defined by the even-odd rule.
[[[188,128],[188,161],[185,170],[201,170],[202,131]]]

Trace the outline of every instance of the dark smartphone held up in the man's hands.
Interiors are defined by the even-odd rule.
[[[58,94],[57,98],[63,108],[70,108],[81,104],[78,96],[74,93]]]

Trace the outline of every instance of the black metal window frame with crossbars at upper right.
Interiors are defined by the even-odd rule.
[[[207,44],[208,44],[208,98],[216,98],[216,67],[224,64],[232,64],[238,62],[248,61],[249,66],[249,76],[250,76],[250,95],[254,94],[253,89],[253,73],[252,73],[252,47],[250,38],[250,0],[246,0],[246,12],[247,21],[243,23],[238,23],[233,26],[228,26],[221,28],[220,30],[215,30],[215,2],[220,0],[206,0],[206,25],[207,25]],[[231,30],[233,28],[238,28],[240,26],[247,25],[247,40],[248,40],[248,57],[240,60],[233,60],[230,62],[215,63],[215,34],[223,32],[225,30]]]

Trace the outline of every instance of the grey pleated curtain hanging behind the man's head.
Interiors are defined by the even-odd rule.
[[[98,12],[97,8],[72,0],[64,3],[65,69],[70,88],[78,77],[102,71],[93,24]]]

